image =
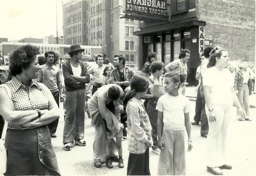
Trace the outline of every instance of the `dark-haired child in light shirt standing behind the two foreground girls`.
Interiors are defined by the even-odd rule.
[[[152,138],[153,138],[153,152],[160,154],[160,149],[158,147],[157,141],[157,110],[155,106],[157,105],[158,98],[165,94],[164,80],[163,80],[163,64],[161,61],[154,61],[151,63],[150,70],[151,75],[149,76],[149,94],[153,95],[147,103],[147,114],[149,114],[150,124],[152,126]],[[149,96],[150,97],[150,96]]]

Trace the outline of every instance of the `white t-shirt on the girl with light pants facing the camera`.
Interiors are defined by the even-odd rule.
[[[184,130],[185,116],[189,113],[189,99],[183,95],[171,96],[169,93],[158,99],[155,109],[163,112],[163,126],[170,130]]]

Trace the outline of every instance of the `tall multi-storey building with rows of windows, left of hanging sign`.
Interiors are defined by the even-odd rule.
[[[138,69],[139,37],[133,32],[138,30],[139,22],[123,18],[122,6],[122,0],[70,1],[63,4],[64,43],[102,46],[102,52],[111,62],[114,55],[125,55],[126,65]],[[71,12],[66,9],[71,9]],[[79,13],[82,19],[76,17]],[[75,32],[75,26],[80,24],[82,30]],[[82,36],[82,40],[75,40],[77,35]]]

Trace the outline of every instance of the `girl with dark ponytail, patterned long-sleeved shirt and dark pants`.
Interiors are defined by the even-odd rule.
[[[131,90],[125,96],[123,104],[127,112],[129,159],[127,175],[150,175],[149,147],[152,145],[149,116],[141,101],[149,88],[149,81],[140,75],[134,75],[130,83]]]

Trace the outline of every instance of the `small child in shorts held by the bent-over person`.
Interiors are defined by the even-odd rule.
[[[117,149],[118,149],[118,155],[119,155],[119,163],[118,163],[118,167],[119,168],[123,168],[123,149],[122,149],[122,137],[123,137],[123,124],[121,124],[121,114],[123,113],[123,97],[124,97],[124,93],[122,93],[119,98],[115,101],[112,101],[110,99],[106,99],[106,108],[109,109],[111,112],[113,112],[115,114],[115,117],[118,118],[118,121],[121,125],[121,129],[119,130],[119,132],[114,132],[111,131],[106,127],[106,133],[107,133],[107,149],[106,149],[106,166],[108,168],[113,168],[111,159],[110,159],[110,148],[111,145],[113,144],[113,139],[116,138],[116,142],[117,142]]]

